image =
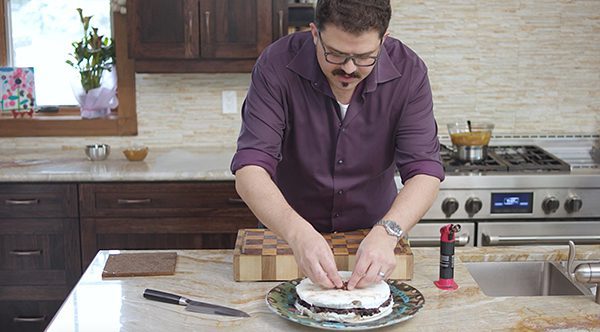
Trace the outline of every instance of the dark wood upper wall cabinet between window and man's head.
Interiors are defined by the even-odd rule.
[[[287,34],[287,0],[130,0],[138,72],[249,72]]]

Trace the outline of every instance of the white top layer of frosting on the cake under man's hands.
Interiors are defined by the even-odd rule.
[[[351,271],[340,271],[342,280],[347,281]],[[378,308],[390,297],[390,286],[385,281],[369,285],[365,288],[355,288],[351,291],[344,289],[326,289],[314,284],[309,278],[304,278],[296,286],[298,297],[313,306],[352,309]]]

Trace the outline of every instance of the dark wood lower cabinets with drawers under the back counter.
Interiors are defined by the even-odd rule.
[[[100,249],[232,249],[233,181],[0,183],[0,331],[43,331]]]

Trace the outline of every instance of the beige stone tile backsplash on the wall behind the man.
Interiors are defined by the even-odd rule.
[[[463,119],[497,135],[600,134],[600,1],[392,0],[390,34],[427,63],[440,134]],[[0,139],[3,147],[232,147],[250,74],[138,74],[138,136]]]

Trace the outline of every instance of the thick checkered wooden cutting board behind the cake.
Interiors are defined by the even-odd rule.
[[[351,271],[356,250],[369,230],[323,234],[339,271]],[[413,254],[406,239],[396,246],[396,269],[390,279],[411,280]],[[236,281],[284,281],[303,277],[288,244],[267,229],[240,229],[233,252]]]

